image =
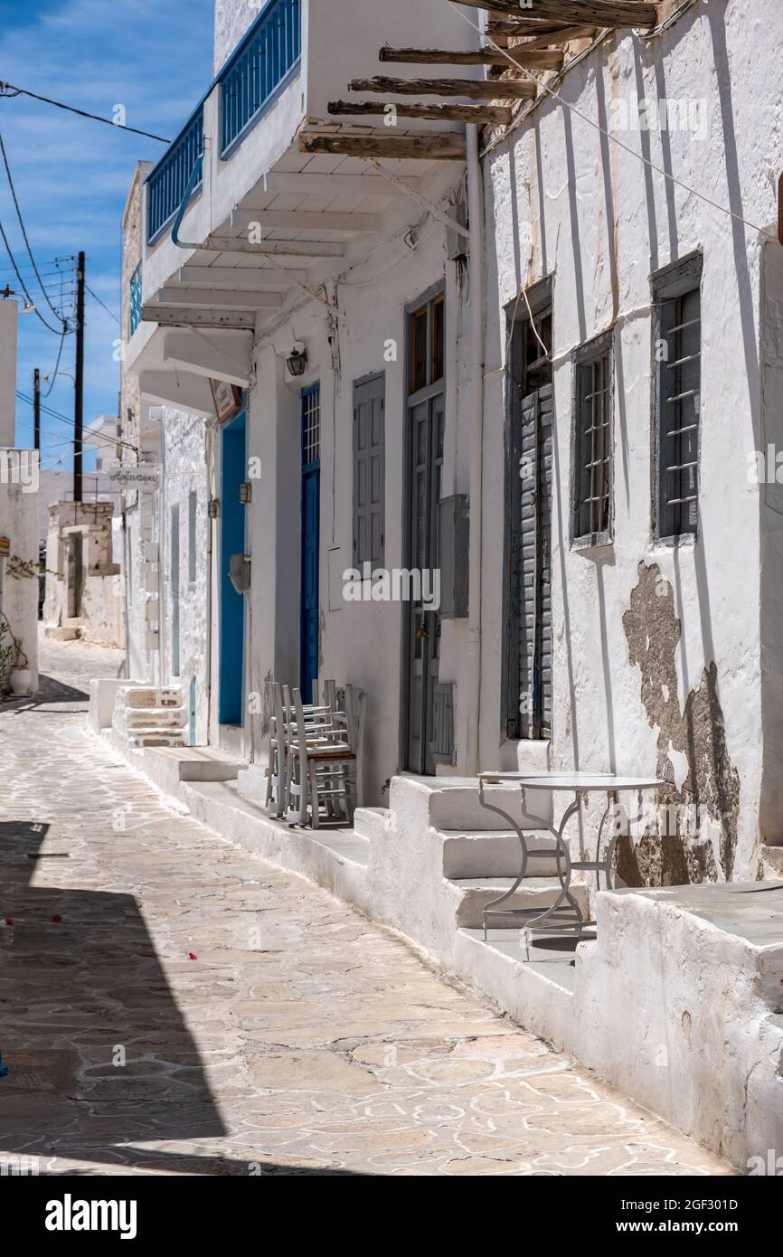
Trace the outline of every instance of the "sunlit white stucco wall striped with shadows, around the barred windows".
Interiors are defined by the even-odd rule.
[[[704,197],[774,234],[773,176],[779,155],[768,119],[783,84],[777,64],[768,67],[763,82],[754,65],[767,60],[770,31],[783,33],[782,23],[779,6],[772,3],[760,4],[749,20],[744,5],[710,0],[655,40],[627,31],[611,36],[567,74],[559,93],[605,128],[616,99],[665,96],[706,102],[704,134],[650,131],[623,132],[618,138]],[[645,167],[554,101],[542,103],[532,122],[494,148],[484,165],[488,239],[496,241],[496,255],[490,250],[488,274],[483,763],[489,767],[498,758],[503,650],[503,518],[490,504],[504,491],[505,397],[504,376],[493,372],[505,357],[504,305],[520,285],[552,275],[553,764],[618,772],[665,767],[657,734],[666,713],[656,704],[645,711],[642,672],[630,660],[623,626],[640,563],[657,564],[664,582],[659,606],[669,601],[672,615],[666,623],[656,618],[655,598],[645,613],[650,634],[671,637],[665,645],[655,637],[650,662],[655,664],[656,651],[660,662],[671,650],[677,718],[685,723],[686,699],[691,695],[698,703],[699,693],[704,698],[705,669],[715,662],[710,710],[715,719],[719,706],[725,720],[728,762],[696,764],[700,757],[718,755],[715,738],[704,754],[696,728],[690,730],[687,768],[716,798],[739,791],[735,851],[723,857],[720,851],[704,854],[704,871],[719,879],[754,875],[763,753],[760,538],[759,498],[748,484],[747,466],[749,451],[763,447],[762,236]],[[704,255],[700,535],[695,546],[686,542],[675,551],[655,544],[651,534],[650,275],[694,250]],[[779,318],[779,307],[773,317]],[[616,328],[615,543],[577,553],[568,535],[571,351],[611,326]],[[675,617],[681,625],[679,641]],[[773,656],[767,666],[779,667],[779,641]],[[779,711],[772,718],[779,723]],[[669,777],[674,769],[672,755]],[[731,802],[729,797],[728,808]]]

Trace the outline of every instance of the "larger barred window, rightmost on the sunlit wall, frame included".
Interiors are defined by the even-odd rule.
[[[656,310],[657,538],[695,535],[701,422],[701,258],[652,282]]]

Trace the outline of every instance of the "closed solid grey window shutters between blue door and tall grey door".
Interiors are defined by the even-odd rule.
[[[353,566],[383,566],[386,377],[353,386]]]

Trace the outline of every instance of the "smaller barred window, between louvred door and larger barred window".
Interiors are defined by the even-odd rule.
[[[574,354],[572,541],[612,541],[612,333]]]

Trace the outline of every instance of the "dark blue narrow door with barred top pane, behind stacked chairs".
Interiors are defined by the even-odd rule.
[[[302,596],[299,689],[310,703],[318,676],[320,515],[320,386],[302,393]]]

